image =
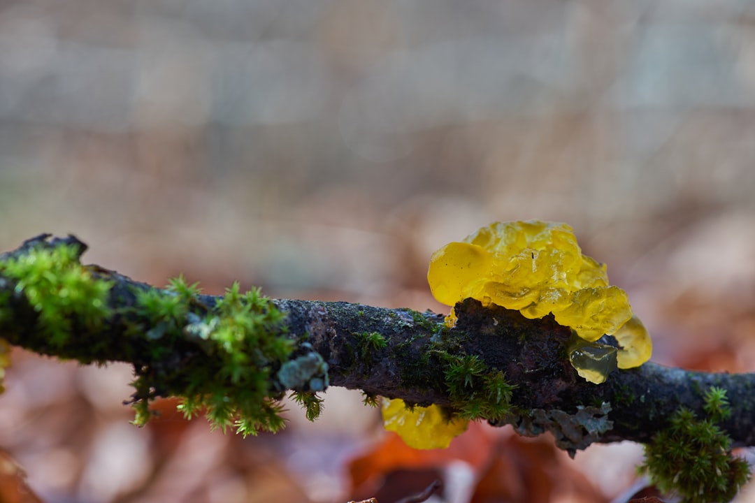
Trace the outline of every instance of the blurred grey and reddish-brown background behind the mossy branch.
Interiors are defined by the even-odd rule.
[[[653,360],[755,371],[753,160],[746,0],[0,2],[0,247],[71,232],[85,262],[156,285],[445,311],[433,250],[550,219],[609,264]],[[643,485],[630,443],[572,462],[481,426],[407,452],[336,388],[319,422],[292,405],[275,437],[212,433],[170,400],[137,429],[130,380],[14,354],[0,446],[44,501],[390,503],[433,477],[447,501],[626,501]]]

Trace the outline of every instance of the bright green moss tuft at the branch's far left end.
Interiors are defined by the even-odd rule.
[[[79,255],[79,247],[63,244],[38,247],[0,264],[3,275],[15,281],[15,292],[36,311],[37,327],[53,346],[69,342],[76,330],[96,330],[110,315],[112,282],[93,278]]]

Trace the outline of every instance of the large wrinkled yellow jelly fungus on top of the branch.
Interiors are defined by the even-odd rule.
[[[582,255],[574,231],[563,223],[495,222],[480,228],[463,242],[433,253],[427,282],[445,305],[472,297],[529,318],[552,313],[557,323],[572,327],[586,342],[615,335],[622,369],[642,365],[652,351],[647,331],[633,318],[627,294],[609,286],[606,265]],[[455,317],[446,322],[453,321]],[[590,366],[581,368],[574,359],[572,364],[581,375],[593,376]],[[607,375],[610,370],[601,372]],[[605,376],[588,380],[600,379]]]

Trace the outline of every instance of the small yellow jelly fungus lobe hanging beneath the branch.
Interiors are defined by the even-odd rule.
[[[439,406],[407,408],[404,400],[383,398],[385,429],[395,431],[406,445],[414,449],[445,449],[464,431],[466,419],[448,421]]]

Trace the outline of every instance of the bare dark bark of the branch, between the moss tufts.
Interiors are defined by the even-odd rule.
[[[36,247],[68,244],[85,245],[76,238],[48,240],[48,235],[26,241],[17,250],[0,255],[0,261],[23,256]],[[9,300],[0,317],[0,336],[39,354],[79,360],[82,363],[125,361],[137,374],[160,376],[154,395],[170,394],[171,382],[185,380],[187,362],[206,359],[196,337],[187,336],[179,344],[133,335],[134,319],[128,311],[136,292],[153,289],[115,271],[98,265],[86,266],[98,279],[112,281],[108,304],[112,315],[97,330],[73,320],[75,340],[52,345],[38,330],[37,313],[20,294],[16,282],[3,274],[0,265],[0,294]],[[159,290],[159,289],[156,289]],[[2,299],[2,296],[0,296]],[[193,311],[206,313],[217,297],[200,295]],[[571,335],[547,316],[539,320],[522,317],[495,305],[483,307],[467,299],[455,307],[458,322],[443,326],[443,315],[430,311],[378,308],[348,302],[320,302],[275,299],[274,305],[286,314],[281,336],[305,340],[310,350],[328,365],[330,385],[359,389],[371,396],[402,398],[408,403],[451,405],[451,397],[436,354],[439,339],[452,340],[464,354],[476,355],[488,367],[502,370],[516,389],[511,403],[516,410],[529,411],[508,416],[522,434],[552,431],[559,446],[574,452],[591,442],[620,440],[647,442],[667,425],[667,419],[680,406],[705,416],[703,394],[711,386],[724,388],[733,413],[721,423],[735,446],[755,445],[755,374],[700,373],[646,363],[633,370],[617,370],[607,382],[593,385],[581,379],[566,357]],[[131,313],[131,314],[125,314]],[[387,342],[374,351],[360,352],[365,333],[379,333]],[[308,346],[309,347],[309,346]],[[428,357],[428,355],[430,355]],[[297,356],[297,353],[294,353]],[[279,385],[279,383],[278,383]],[[310,390],[298,390],[310,391]],[[590,428],[590,422],[603,421],[607,428]]]

